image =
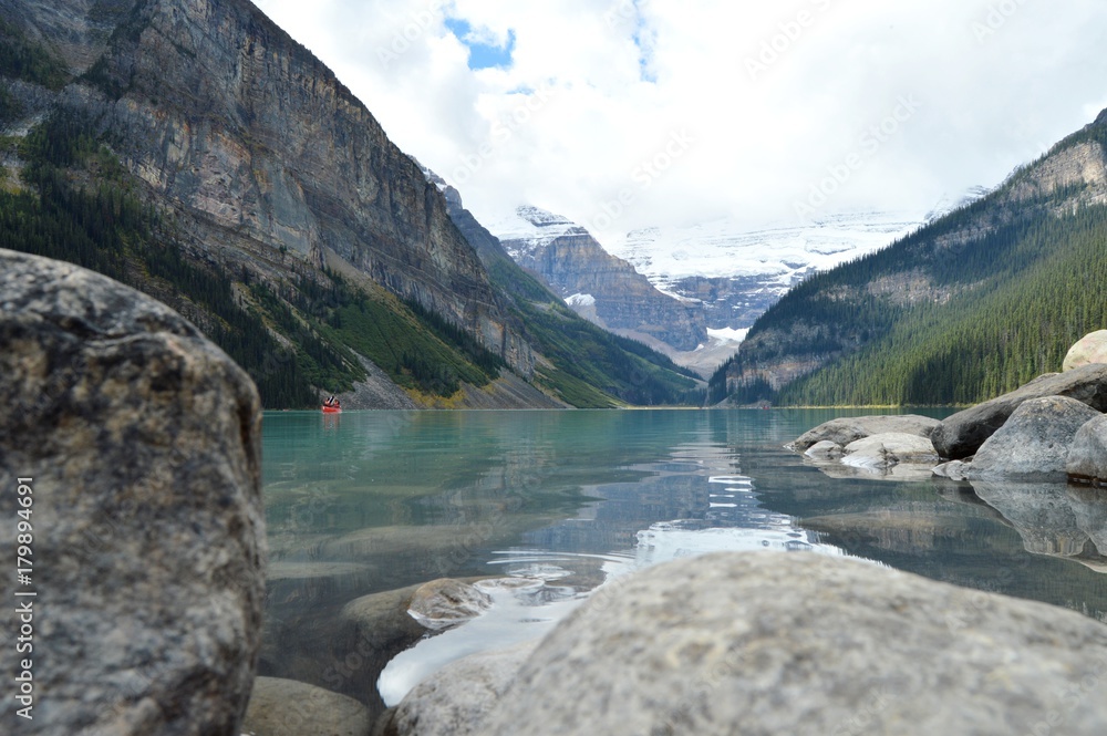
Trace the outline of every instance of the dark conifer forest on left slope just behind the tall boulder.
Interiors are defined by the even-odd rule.
[[[267,406],[314,403],[289,351],[257,314],[238,307],[227,273],[184,257],[166,237],[167,224],[142,204],[86,126],[55,115],[21,142],[20,155],[30,190],[0,193],[0,247],[70,261],[146,291],[167,287],[213,317],[208,335],[250,371]]]

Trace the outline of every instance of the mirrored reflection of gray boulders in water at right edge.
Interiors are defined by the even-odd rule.
[[[1107,496],[1065,484],[973,481],[973,489],[1023,538],[1026,551],[1107,572]]]

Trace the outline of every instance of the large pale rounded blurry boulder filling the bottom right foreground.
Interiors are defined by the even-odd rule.
[[[1107,733],[1107,626],[1072,611],[814,553],[680,560],[611,594],[472,733]]]

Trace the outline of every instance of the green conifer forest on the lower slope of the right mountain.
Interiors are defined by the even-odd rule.
[[[1105,243],[1105,207],[1049,218],[1017,248],[1048,255],[956,304],[911,311],[883,338],[786,386],[779,401],[971,404],[1059,371],[1074,342],[1107,325]]]

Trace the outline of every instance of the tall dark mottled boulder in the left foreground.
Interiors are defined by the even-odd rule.
[[[265,588],[260,416],[247,375],[168,308],[0,250],[0,549],[14,567],[32,548],[29,581],[0,577],[3,635],[15,592],[37,593],[33,651],[0,646],[0,733],[238,733]]]

